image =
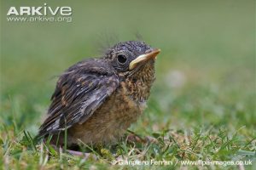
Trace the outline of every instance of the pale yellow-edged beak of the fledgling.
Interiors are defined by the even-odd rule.
[[[149,52],[148,54],[142,54],[138,56],[136,59],[133,59],[129,65],[129,70],[131,71],[134,69],[137,64],[147,61],[148,59],[155,59],[157,54],[160,54],[160,49],[154,49],[153,51]]]

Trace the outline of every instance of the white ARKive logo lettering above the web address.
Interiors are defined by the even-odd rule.
[[[44,6],[41,7],[10,7],[7,15],[8,16],[55,16],[60,14],[62,16],[69,16],[72,15],[72,8],[71,7],[49,7],[47,3],[44,3]]]

